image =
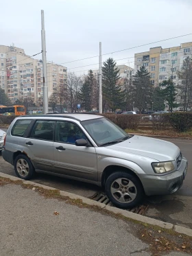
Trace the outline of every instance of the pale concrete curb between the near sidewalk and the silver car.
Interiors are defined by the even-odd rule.
[[[0,172],[0,177],[9,178],[11,181],[23,181],[21,178],[10,176],[8,174],[3,174],[2,172]],[[139,214],[132,213],[130,211],[125,211],[123,209],[119,209],[119,208],[116,208],[116,207],[110,207],[108,205],[104,205],[101,202],[97,202],[95,200],[85,198],[84,196],[78,196],[76,194],[72,194],[72,193],[69,193],[67,191],[62,191],[62,190],[59,190],[59,189],[55,189],[53,187],[49,187],[49,186],[42,185],[42,184],[39,184],[39,183],[34,183],[33,181],[23,181],[23,184],[29,184],[29,185],[33,185],[33,186],[36,186],[36,187],[42,187],[43,189],[58,190],[58,191],[60,191],[61,196],[66,196],[66,197],[71,198],[73,200],[74,199],[75,200],[82,200],[82,202],[86,205],[97,206],[100,209],[106,209],[110,213],[121,214],[121,216],[123,216],[125,218],[129,218],[129,219],[137,221],[137,222],[143,222],[145,224],[147,223],[147,224],[150,224],[152,226],[158,226],[159,228],[163,228],[163,229],[167,229],[167,230],[173,230],[173,231],[176,231],[177,233],[188,235],[188,236],[192,237],[192,229],[188,229],[188,228],[185,228],[183,226],[173,225],[169,222],[163,222],[161,220],[156,220],[154,218],[141,216]]]

